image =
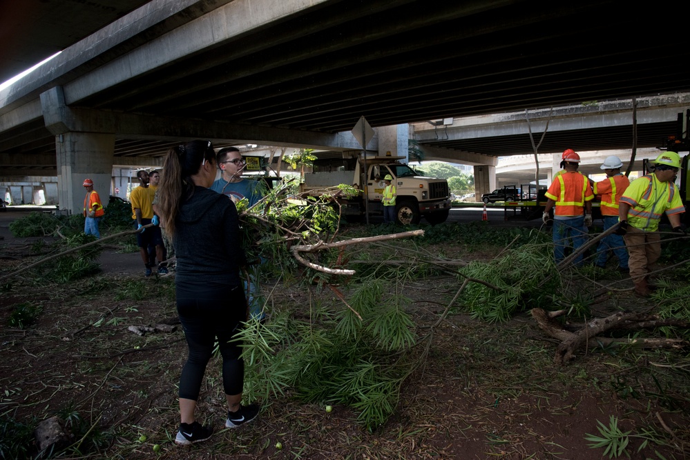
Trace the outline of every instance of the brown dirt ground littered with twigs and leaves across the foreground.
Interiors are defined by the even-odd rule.
[[[11,237],[7,219],[0,219],[0,237],[5,253],[30,244]],[[1,263],[0,276],[26,261]],[[1,417],[26,422],[79,412],[92,432],[109,434],[102,446],[81,446],[84,454],[69,458],[584,460],[602,458],[604,449],[590,448],[585,437],[599,435],[597,421],[608,427],[611,417],[629,432],[632,459],[684,459],[690,446],[690,383],[679,365],[687,362],[687,350],[586,350],[568,366],[555,366],[557,343],[528,313],[499,324],[458,313],[439,325],[428,362],[403,386],[394,415],[373,433],[350,408],[326,412],[323,404],[290,394],[261,401],[256,421],[228,430],[220,368],[211,361],[198,413],[216,432],[206,443],[180,448],[172,439],[184,335],[179,328],[143,337],[128,330],[175,317],[173,277],[145,279],[139,254],[121,254],[115,246],[104,250],[100,263],[101,272],[70,286],[21,275],[0,283]],[[419,331],[438,320],[458,287],[450,276],[408,284]],[[267,281],[263,288],[274,286]],[[582,281],[580,288],[593,286]],[[304,307],[304,294],[290,286],[274,292],[281,308]],[[23,302],[42,307],[37,323],[8,326],[12,308]],[[594,299],[592,308],[605,316],[619,308],[642,310],[648,302],[630,290],[612,291]]]

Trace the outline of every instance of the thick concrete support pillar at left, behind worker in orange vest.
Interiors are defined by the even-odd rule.
[[[57,196],[61,209],[70,214],[84,210],[84,179],[93,181],[104,205],[108,204],[113,173],[115,134],[66,132],[55,137]]]

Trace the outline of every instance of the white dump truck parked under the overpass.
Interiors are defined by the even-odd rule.
[[[396,186],[395,215],[399,223],[419,223],[421,217],[429,223],[448,219],[450,192],[445,179],[420,176],[410,166],[401,163],[404,157],[368,157],[367,171],[363,174],[365,162],[361,158],[343,156],[345,158],[314,161],[314,171],[305,174],[302,191],[312,195],[330,194],[340,203],[342,215],[348,220],[365,216],[365,197],[369,198],[370,216],[383,215],[383,178],[390,174]],[[361,192],[358,196],[334,193],[332,188],[341,184],[353,186]]]

